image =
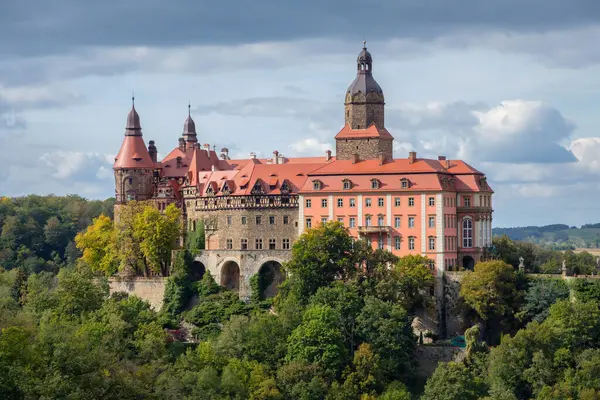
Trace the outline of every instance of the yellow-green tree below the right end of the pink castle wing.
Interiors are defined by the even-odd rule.
[[[484,322],[489,343],[495,343],[492,331],[510,328],[522,293],[517,288],[517,274],[504,261],[487,261],[475,265],[475,271],[463,278],[460,295]]]

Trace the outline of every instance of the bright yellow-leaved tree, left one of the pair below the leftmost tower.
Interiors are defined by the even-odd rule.
[[[109,276],[117,272],[119,260],[115,247],[115,230],[112,220],[100,215],[83,232],[75,236],[77,248],[83,252],[81,258],[92,271]]]

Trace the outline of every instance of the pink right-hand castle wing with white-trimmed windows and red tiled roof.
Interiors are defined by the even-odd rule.
[[[492,190],[459,160],[333,161],[309,174],[299,233],[339,221],[373,248],[421,254],[439,273],[472,268],[491,245]]]

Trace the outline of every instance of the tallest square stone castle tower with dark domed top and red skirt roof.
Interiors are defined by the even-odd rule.
[[[336,135],[338,160],[393,158],[394,138],[385,129],[383,90],[373,78],[373,57],[366,42],[356,59],[356,78],[346,91],[345,126]]]

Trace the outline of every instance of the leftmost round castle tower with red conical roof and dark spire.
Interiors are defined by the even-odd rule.
[[[125,204],[131,200],[143,201],[152,197],[155,153],[153,141],[150,141],[149,148],[146,148],[142,138],[140,116],[135,109],[135,99],[132,98],[131,111],[127,115],[125,126],[125,138],[113,164],[117,204]]]

